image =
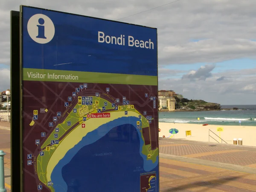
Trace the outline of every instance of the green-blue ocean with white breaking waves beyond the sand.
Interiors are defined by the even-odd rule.
[[[221,111],[159,112],[159,122],[256,126],[256,105],[221,105]],[[233,110],[239,108],[239,110]]]

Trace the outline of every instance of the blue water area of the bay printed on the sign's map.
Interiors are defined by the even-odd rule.
[[[121,117],[84,136],[53,169],[55,192],[131,192],[140,189],[140,172],[158,175],[158,158],[152,163],[142,154],[137,121],[138,117]],[[111,139],[111,134],[117,137]],[[120,136],[126,140],[118,140]],[[137,167],[143,169],[136,172]]]

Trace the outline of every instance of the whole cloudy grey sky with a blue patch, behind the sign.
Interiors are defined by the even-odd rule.
[[[10,10],[28,5],[156,27],[159,90],[256,105],[256,0],[175,1],[1,0],[0,91],[10,87]]]

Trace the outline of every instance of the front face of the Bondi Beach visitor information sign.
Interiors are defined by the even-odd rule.
[[[23,192],[159,192],[157,29],[20,12]]]

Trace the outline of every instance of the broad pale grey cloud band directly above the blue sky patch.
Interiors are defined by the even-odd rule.
[[[215,63],[237,58],[255,58],[256,42],[247,39],[207,39],[166,45],[159,50],[160,63]]]

